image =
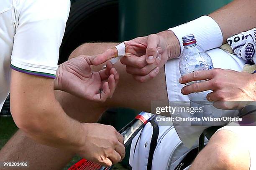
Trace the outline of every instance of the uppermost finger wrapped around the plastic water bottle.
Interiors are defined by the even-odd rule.
[[[207,80],[212,79],[215,76],[214,70],[200,70],[191,72],[189,74],[183,75],[179,78],[179,82],[182,84],[195,81],[195,80]]]

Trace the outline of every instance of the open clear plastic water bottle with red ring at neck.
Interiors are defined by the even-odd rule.
[[[181,58],[179,61],[179,71],[182,76],[198,70],[210,70],[213,68],[211,57],[200,46],[196,44],[194,35],[187,35],[184,36],[182,39],[184,50],[181,53]],[[193,83],[202,81],[205,80],[189,82],[186,85],[191,85]],[[206,95],[209,92],[211,92],[211,90],[204,92],[195,92],[188,95],[191,107],[204,107],[203,113],[197,113],[192,116],[214,116],[214,108],[212,106],[212,103],[207,101],[206,99]]]

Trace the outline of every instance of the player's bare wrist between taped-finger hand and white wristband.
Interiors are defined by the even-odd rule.
[[[157,35],[159,35],[166,43],[168,60],[179,57],[181,51],[179,40],[176,35],[170,30],[159,32]]]

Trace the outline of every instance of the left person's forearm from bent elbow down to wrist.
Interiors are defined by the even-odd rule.
[[[21,124],[20,128],[33,140],[44,145],[79,153],[85,141],[82,125],[67,116],[56,100],[31,114],[33,117],[23,115],[31,120]]]

